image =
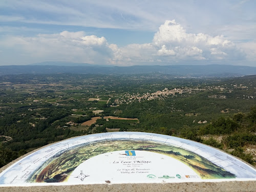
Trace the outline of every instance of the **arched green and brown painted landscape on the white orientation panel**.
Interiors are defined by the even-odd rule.
[[[173,145],[155,141],[115,139],[76,145],[61,151],[47,160],[28,179],[28,182],[66,182],[73,170],[89,158],[114,151],[147,151],[177,159],[193,169],[202,179],[229,179],[236,175],[212,163],[206,158]],[[170,165],[171,166],[171,165]]]

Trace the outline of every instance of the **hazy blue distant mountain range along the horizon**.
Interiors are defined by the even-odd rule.
[[[171,65],[171,66],[103,66],[88,63],[42,62],[26,66],[0,66],[0,75],[8,74],[147,74],[160,73],[184,77],[232,77],[256,74],[255,67],[230,65]]]

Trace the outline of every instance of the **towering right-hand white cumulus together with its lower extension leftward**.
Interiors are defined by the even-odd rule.
[[[222,35],[187,33],[175,20],[166,20],[148,44],[132,44],[112,49],[111,63],[132,65],[135,63],[179,63],[179,62],[228,62],[244,59],[241,49]]]

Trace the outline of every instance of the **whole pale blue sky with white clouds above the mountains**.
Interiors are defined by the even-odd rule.
[[[1,0],[0,65],[256,67],[256,1]]]

